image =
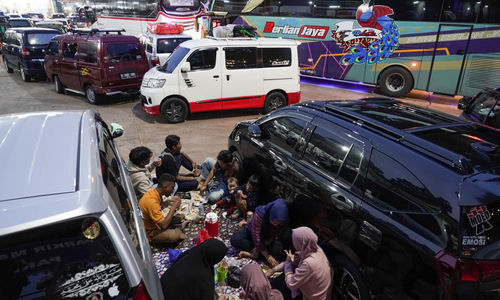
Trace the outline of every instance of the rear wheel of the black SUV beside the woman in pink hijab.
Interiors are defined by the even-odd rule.
[[[369,299],[370,293],[363,274],[351,260],[344,255],[336,255],[333,266],[332,295],[335,295],[335,299]]]

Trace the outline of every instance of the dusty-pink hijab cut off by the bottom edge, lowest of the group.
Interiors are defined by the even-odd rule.
[[[269,280],[256,263],[250,263],[241,269],[240,280],[245,300],[283,300],[280,291],[271,289]]]

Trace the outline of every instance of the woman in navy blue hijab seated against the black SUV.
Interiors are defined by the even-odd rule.
[[[248,226],[233,234],[231,245],[242,250],[240,257],[258,258],[262,255],[275,267],[278,260],[285,259],[283,251],[288,244],[288,219],[288,206],[282,198],[257,206]]]

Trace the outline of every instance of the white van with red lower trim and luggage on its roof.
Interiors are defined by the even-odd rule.
[[[141,86],[144,110],[170,123],[189,113],[242,108],[269,112],[300,100],[298,42],[207,38],[184,42]]]

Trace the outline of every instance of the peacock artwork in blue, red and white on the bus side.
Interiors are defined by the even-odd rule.
[[[363,0],[356,11],[355,21],[335,23],[332,38],[344,49],[341,64],[369,64],[387,59],[399,47],[397,24],[388,15],[394,11],[383,5],[370,6],[370,0]]]

